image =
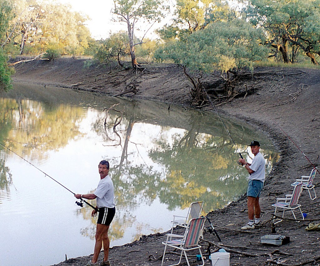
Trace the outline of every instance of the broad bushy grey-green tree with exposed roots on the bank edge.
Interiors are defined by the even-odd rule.
[[[164,44],[156,53],[156,59],[169,60],[183,67],[193,88],[194,105],[207,101],[206,86],[202,77],[218,70],[224,79],[224,94],[234,94],[230,74],[237,76],[238,70],[252,68],[254,61],[264,59],[266,48],[262,45],[265,36],[262,30],[252,27],[242,19],[228,22],[213,22],[201,31],[196,31],[184,40]]]

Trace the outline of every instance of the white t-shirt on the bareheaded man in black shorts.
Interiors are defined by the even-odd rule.
[[[115,207],[115,192],[113,182],[110,176],[106,176],[103,179],[100,179],[99,184],[93,192],[97,196],[97,207]]]

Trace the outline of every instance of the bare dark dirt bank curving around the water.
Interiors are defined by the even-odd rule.
[[[88,62],[83,59],[57,59],[49,63],[31,61],[16,66],[13,80],[36,82],[44,88],[56,85],[113,96],[124,93],[124,97],[190,106],[191,84],[180,67],[154,67],[132,73],[95,65],[84,68]],[[284,220],[276,225],[276,234],[290,237],[290,243],[271,246],[260,242],[261,236],[272,234],[270,220],[274,208],[271,205],[276,198],[292,192],[291,183],[295,178],[309,175],[311,164],[306,157],[319,165],[320,69],[266,67],[257,68],[255,72],[260,73],[259,78],[246,83],[255,88],[255,93],[219,106],[218,112],[260,129],[273,141],[281,157],[266,177],[260,197],[261,228],[240,231],[248,220],[245,195],[227,207],[209,213],[221,242],[206,230],[204,240],[200,242],[205,265],[212,265],[208,254],[221,247],[230,253],[230,265],[320,265],[320,231],[305,231],[309,223],[320,223],[320,200],[310,200],[305,190],[299,202],[302,211],[308,214],[306,219],[300,223]],[[317,173],[316,193],[320,195],[319,180]],[[139,241],[124,246],[114,246],[109,255],[111,265],[161,265],[165,238],[165,233],[157,233],[142,236]],[[88,254],[92,252],[93,247]],[[101,252],[99,260],[102,255]],[[56,265],[85,265],[90,258],[91,255],[72,258]],[[174,252],[166,254],[165,265],[178,260],[179,256]],[[197,265],[195,256],[190,264]],[[181,265],[187,265],[185,260]]]

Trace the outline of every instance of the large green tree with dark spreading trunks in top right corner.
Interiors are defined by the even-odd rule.
[[[318,65],[320,0],[251,0],[244,11],[253,25],[265,28],[268,42],[281,53],[284,63],[295,62],[302,49]]]

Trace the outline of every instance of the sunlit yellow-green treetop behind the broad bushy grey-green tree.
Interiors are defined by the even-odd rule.
[[[204,29],[211,22],[231,20],[236,13],[225,0],[177,0],[174,15],[171,25],[157,30],[164,40],[180,39],[186,33]]]

